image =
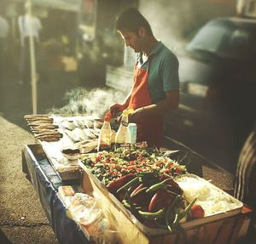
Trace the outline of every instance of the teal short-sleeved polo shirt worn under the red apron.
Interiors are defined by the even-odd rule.
[[[153,103],[166,98],[165,92],[179,88],[178,60],[169,48],[158,42],[148,59],[143,60],[143,54],[137,54],[137,66],[148,68],[148,88]]]

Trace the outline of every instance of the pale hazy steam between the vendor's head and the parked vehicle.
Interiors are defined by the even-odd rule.
[[[234,0],[139,1],[139,10],[151,25],[154,36],[172,50],[182,49],[208,20],[235,15],[235,7]]]

